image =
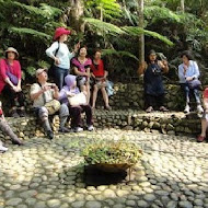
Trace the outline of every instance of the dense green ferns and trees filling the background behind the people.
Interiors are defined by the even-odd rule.
[[[37,67],[49,66],[45,55],[58,26],[71,30],[69,48],[77,42],[103,49],[112,77],[136,77],[138,36],[146,51],[154,48],[169,60],[189,49],[207,58],[208,4],[206,0],[145,0],[145,25],[139,27],[138,0],[0,0],[0,53],[15,47],[30,81]]]

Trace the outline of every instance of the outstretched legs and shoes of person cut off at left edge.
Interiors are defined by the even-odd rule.
[[[8,123],[4,118],[4,115],[3,115],[1,101],[0,101],[0,130],[4,135],[8,135],[11,138],[12,143],[19,145],[19,146],[23,145],[23,142],[18,138],[18,136],[13,132],[11,127],[8,125]],[[0,151],[7,151],[7,150],[8,150],[8,148],[3,147],[2,142],[0,141]]]

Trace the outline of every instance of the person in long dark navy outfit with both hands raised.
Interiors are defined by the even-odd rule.
[[[169,65],[166,60],[158,60],[154,50],[150,50],[147,62],[142,62],[139,67],[138,73],[145,74],[145,100],[147,105],[147,113],[159,106],[161,112],[167,112],[164,107],[164,86],[162,82],[162,72],[169,72]]]

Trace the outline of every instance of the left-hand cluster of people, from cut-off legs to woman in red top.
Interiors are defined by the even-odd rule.
[[[55,42],[46,49],[46,55],[54,59],[50,76],[55,83],[48,82],[47,69],[39,68],[35,72],[37,82],[32,84],[30,92],[33,101],[33,112],[38,117],[49,139],[54,138],[49,123],[49,116],[54,114],[59,114],[60,132],[82,131],[82,113],[85,113],[88,130],[94,130],[92,109],[95,108],[99,90],[102,92],[105,109],[111,109],[105,89],[108,73],[104,61],[101,59],[101,50],[96,49],[93,58],[90,59],[86,46],[80,46],[80,43],[78,43],[73,51],[70,53],[65,43],[69,34],[70,31],[58,27],[54,35]],[[9,47],[4,56],[0,60],[0,93],[9,95],[11,104],[10,116],[24,117],[25,106],[24,94],[21,88],[22,71],[18,60],[19,53],[15,48]],[[90,105],[90,81],[93,81],[92,106]],[[77,100],[76,104],[70,103],[72,97]],[[23,145],[8,126],[1,107],[0,112],[1,130],[11,137],[13,143]],[[66,127],[69,118],[71,118],[71,129]],[[7,148],[0,142],[0,151],[5,150]]]

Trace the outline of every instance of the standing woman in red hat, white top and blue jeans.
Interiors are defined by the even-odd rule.
[[[65,44],[69,34],[70,31],[65,27],[56,28],[55,42],[46,49],[46,55],[54,59],[53,78],[59,90],[63,86],[65,77],[70,72],[70,60],[76,56],[80,47],[80,44],[77,44],[74,50],[72,53],[69,51],[67,44]]]

